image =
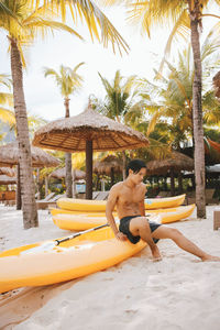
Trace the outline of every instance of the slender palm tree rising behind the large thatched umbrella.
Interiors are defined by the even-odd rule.
[[[59,74],[56,73],[52,68],[44,68],[44,76],[52,76],[56,85],[61,89],[61,94],[64,97],[64,106],[65,106],[65,117],[69,118],[69,96],[77,91],[82,84],[82,77],[77,74],[77,69],[84,63],[79,63],[75,66],[74,69],[70,67],[65,67],[61,65]],[[72,154],[66,153],[66,196],[72,198],[73,197],[73,177],[72,177]]]

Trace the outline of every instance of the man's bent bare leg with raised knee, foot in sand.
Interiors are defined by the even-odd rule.
[[[148,244],[154,260],[162,260],[158,248],[153,241],[150,224],[145,217],[136,217],[132,219],[130,221],[129,230],[134,237],[140,235],[141,239]]]

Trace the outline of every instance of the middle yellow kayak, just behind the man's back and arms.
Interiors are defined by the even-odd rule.
[[[195,205],[189,205],[169,209],[150,210],[147,213],[152,216],[160,216],[161,223],[170,223],[188,218],[193,213]],[[117,221],[119,220],[117,217],[114,219]],[[78,231],[107,223],[107,218],[105,216],[92,217],[92,213],[89,216],[59,213],[53,216],[53,221],[61,229]]]

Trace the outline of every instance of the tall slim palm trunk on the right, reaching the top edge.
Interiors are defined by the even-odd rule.
[[[194,53],[195,78],[193,85],[193,113],[194,113],[194,139],[195,139],[195,175],[196,175],[196,204],[197,217],[206,218],[205,198],[205,147],[201,107],[201,55],[199,42],[200,1],[194,2],[190,10],[191,46]]]

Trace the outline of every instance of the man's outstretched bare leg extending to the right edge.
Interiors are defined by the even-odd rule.
[[[199,249],[190,240],[188,240],[182,232],[177,229],[168,228],[166,226],[161,226],[153,233],[152,237],[155,239],[170,239],[173,240],[180,249],[198,256],[201,261],[220,261],[219,256],[210,255]]]

